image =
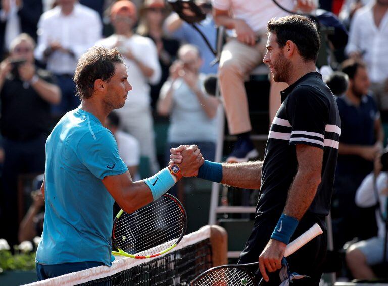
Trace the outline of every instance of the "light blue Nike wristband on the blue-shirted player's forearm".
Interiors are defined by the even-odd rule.
[[[175,185],[175,176],[170,173],[168,168],[164,168],[154,176],[144,179],[144,182],[150,188],[154,201],[166,193]]]

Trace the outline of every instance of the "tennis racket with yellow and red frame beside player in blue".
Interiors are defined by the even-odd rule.
[[[183,238],[187,215],[182,204],[170,194],[132,212],[120,210],[113,221],[114,255],[151,258],[173,249]]]

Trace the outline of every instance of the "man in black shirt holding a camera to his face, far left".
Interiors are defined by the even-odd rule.
[[[43,173],[50,104],[61,99],[51,75],[34,66],[34,46],[29,35],[21,34],[11,43],[10,58],[0,63],[0,130],[5,151],[0,198],[4,234],[0,237],[10,245],[17,243],[18,176]]]

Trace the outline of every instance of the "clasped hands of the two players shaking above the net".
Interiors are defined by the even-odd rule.
[[[180,145],[170,149],[169,165],[179,165],[183,177],[195,177],[198,169],[204,164],[201,150],[197,145]]]

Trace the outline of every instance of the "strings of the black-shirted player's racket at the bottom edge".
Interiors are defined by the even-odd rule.
[[[244,270],[224,267],[205,274],[193,286],[254,286],[253,279]]]

